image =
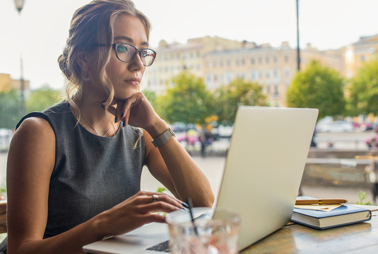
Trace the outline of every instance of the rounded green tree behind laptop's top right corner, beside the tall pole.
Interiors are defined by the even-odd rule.
[[[297,72],[287,89],[287,106],[319,109],[318,119],[338,116],[345,111],[344,81],[340,74],[318,61],[311,61],[303,72]]]

